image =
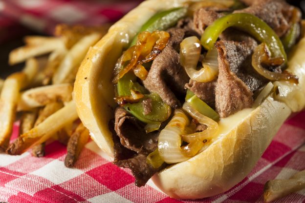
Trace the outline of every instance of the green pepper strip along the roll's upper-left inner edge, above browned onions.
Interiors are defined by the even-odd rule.
[[[152,16],[140,29],[138,34],[131,41],[131,45],[135,45],[140,32],[148,31],[153,32],[156,30],[167,30],[173,27],[178,20],[186,16],[187,8],[178,7],[166,11],[161,11]]]

